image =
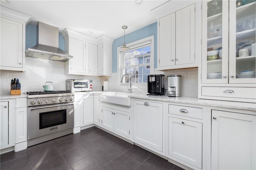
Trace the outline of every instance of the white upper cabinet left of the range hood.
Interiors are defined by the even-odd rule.
[[[1,58],[0,69],[25,71],[26,14],[1,6]]]

